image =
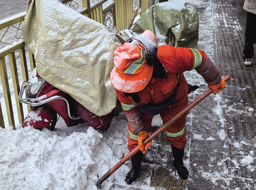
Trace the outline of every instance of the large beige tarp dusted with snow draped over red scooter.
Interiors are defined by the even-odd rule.
[[[31,0],[22,26],[39,75],[96,115],[116,106],[110,82],[120,41],[104,25],[58,0]]]

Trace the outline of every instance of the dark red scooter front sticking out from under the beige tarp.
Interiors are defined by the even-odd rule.
[[[34,73],[31,77],[33,78],[33,82],[29,83],[28,81],[30,88],[37,84],[34,81],[40,82],[43,80],[38,73]],[[21,87],[21,89],[24,90],[25,87]],[[84,108],[67,93],[55,88],[47,81],[44,81],[44,83],[41,82],[41,86],[39,87],[41,89],[39,88],[39,92],[37,92],[38,94],[35,98],[29,97],[30,95],[33,97],[33,94],[35,94],[30,90],[28,91],[28,97],[26,96],[28,99],[23,99],[22,93],[19,94],[20,101],[33,106],[23,122],[23,127],[32,126],[34,128],[46,127],[51,129],[52,124],[55,126],[57,122],[56,117],[59,114],[67,127],[87,123],[100,132],[105,132],[109,128],[114,111],[99,117]]]

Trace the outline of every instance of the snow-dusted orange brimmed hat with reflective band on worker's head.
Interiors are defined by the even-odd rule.
[[[150,30],[117,46],[113,53],[115,67],[110,73],[112,85],[121,92],[141,91],[151,79],[156,54],[156,37]]]

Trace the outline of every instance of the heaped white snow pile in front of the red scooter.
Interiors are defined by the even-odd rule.
[[[84,129],[0,128],[5,142],[0,146],[0,189],[96,190],[98,177],[127,154],[126,136],[113,126],[104,136],[91,127]],[[112,180],[110,176],[102,189],[109,189]]]

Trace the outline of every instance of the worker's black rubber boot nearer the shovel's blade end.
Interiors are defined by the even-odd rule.
[[[137,178],[141,170],[141,159],[142,152],[139,151],[131,157],[131,170],[126,174],[125,182],[127,184],[132,184]]]

